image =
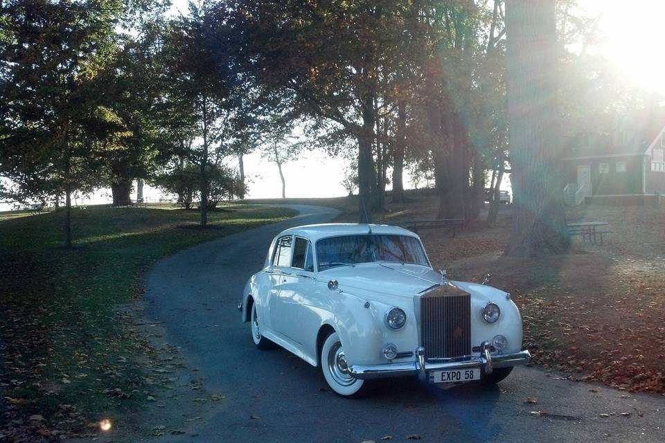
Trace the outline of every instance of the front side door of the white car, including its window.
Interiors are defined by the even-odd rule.
[[[285,270],[279,291],[280,329],[298,347],[316,331],[319,323],[308,309],[308,297],[314,291],[314,260],[312,245],[303,237],[294,238],[290,269]],[[316,323],[311,325],[310,323]],[[314,335],[316,333],[314,332]]]

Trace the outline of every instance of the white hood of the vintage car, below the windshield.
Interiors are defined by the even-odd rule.
[[[413,298],[443,282],[441,274],[425,266],[399,263],[362,263],[339,266],[319,274],[319,280],[337,280],[345,292],[373,292]]]

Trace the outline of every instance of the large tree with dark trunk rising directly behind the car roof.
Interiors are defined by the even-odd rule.
[[[359,214],[371,221],[378,118],[390,111],[389,81],[402,62],[407,1],[237,0],[235,35],[255,83],[287,96],[295,111],[334,123],[357,140]],[[227,8],[227,6],[223,6]]]

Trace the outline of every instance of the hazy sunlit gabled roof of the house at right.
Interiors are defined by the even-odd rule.
[[[614,120],[610,132],[580,131],[565,146],[567,158],[645,155],[665,132],[665,109],[642,109]]]

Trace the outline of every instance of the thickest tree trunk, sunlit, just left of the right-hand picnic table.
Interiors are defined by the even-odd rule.
[[[560,254],[570,237],[560,180],[555,0],[506,0],[513,226],[504,253]]]

